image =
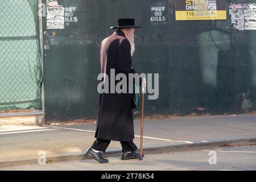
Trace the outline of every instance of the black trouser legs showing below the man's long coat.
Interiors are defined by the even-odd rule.
[[[106,148],[108,148],[110,142],[111,142],[111,140],[104,140],[104,139],[97,138],[93,142],[92,148],[94,150],[105,152]],[[137,146],[133,142],[121,141],[120,143],[122,146],[122,152],[133,152],[133,151],[137,150]]]

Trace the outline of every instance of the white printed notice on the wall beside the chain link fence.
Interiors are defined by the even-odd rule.
[[[46,6],[46,28],[64,29],[64,7],[53,0],[47,0]]]

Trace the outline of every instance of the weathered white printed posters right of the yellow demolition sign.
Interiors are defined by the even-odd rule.
[[[237,30],[256,30],[256,4],[230,3],[232,27]]]

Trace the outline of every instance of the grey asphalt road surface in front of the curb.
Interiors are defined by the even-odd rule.
[[[256,145],[212,148],[204,151],[148,154],[142,161],[110,157],[109,163],[93,159],[44,165],[16,166],[0,170],[256,170]]]

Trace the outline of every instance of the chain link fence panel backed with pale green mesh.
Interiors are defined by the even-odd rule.
[[[0,17],[0,111],[42,109],[38,1],[1,1]]]

